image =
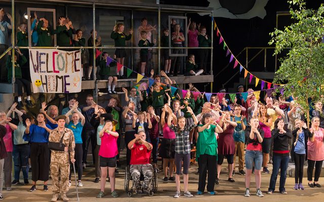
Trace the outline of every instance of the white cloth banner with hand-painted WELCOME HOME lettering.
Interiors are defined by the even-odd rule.
[[[81,51],[29,49],[33,92],[70,93],[81,91]]]

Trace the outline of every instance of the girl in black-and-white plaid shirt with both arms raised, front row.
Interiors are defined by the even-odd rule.
[[[166,109],[169,114],[172,114],[171,108],[168,106]],[[184,183],[184,195],[187,197],[192,197],[193,195],[188,191],[188,169],[190,164],[190,140],[189,140],[189,132],[194,127],[197,126],[198,120],[192,109],[187,107],[187,112],[191,114],[193,118],[193,123],[190,125],[186,125],[186,118],[179,117],[178,125],[175,126],[171,123],[172,116],[168,117],[168,126],[171,130],[174,130],[176,133],[176,155],[175,155],[175,164],[176,164],[176,184],[177,184],[177,192],[174,195],[175,198],[180,197],[180,173],[181,173],[181,164],[183,161],[183,183]]]

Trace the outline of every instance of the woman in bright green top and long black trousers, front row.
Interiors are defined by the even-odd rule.
[[[217,163],[217,139],[215,133],[222,133],[223,129],[210,114],[204,114],[201,123],[205,125],[198,125],[199,136],[196,145],[196,158],[199,166],[199,181],[197,194],[201,195],[204,193],[208,170],[207,191],[214,195]]]

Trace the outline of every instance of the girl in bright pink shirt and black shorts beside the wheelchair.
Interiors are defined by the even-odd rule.
[[[117,139],[118,133],[111,131],[113,126],[111,120],[105,120],[105,126],[99,132],[101,138],[101,146],[99,149],[100,170],[101,170],[101,190],[97,198],[102,198],[105,194],[105,185],[108,174],[110,178],[111,195],[115,198],[118,197],[115,191],[115,169],[116,169],[116,156],[118,154]]]

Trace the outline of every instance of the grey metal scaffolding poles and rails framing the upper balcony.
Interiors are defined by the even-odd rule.
[[[157,49],[157,60],[158,60],[158,72],[160,71],[160,66],[161,66],[161,49],[167,48],[167,49],[210,49],[211,54],[211,76],[213,76],[213,30],[214,30],[214,23],[213,23],[213,9],[212,8],[204,8],[204,7],[189,7],[189,6],[173,6],[173,5],[160,5],[160,4],[147,4],[147,3],[134,3],[132,1],[124,1],[124,2],[114,2],[114,1],[108,1],[108,0],[56,0],[56,1],[49,1],[49,0],[34,0],[34,1],[7,1],[3,0],[2,2],[11,2],[11,7],[12,7],[12,34],[11,34],[11,41],[12,45],[7,49],[7,51],[0,56],[0,58],[4,57],[9,51],[12,51],[12,56],[15,55],[15,48],[18,47],[16,46],[15,39],[16,39],[16,31],[15,31],[15,4],[16,3],[24,3],[24,4],[30,4],[30,5],[35,5],[37,4],[38,8],[39,5],[55,5],[55,6],[64,6],[65,7],[65,16],[68,15],[67,8],[68,7],[86,7],[86,8],[92,8],[93,12],[93,30],[96,30],[96,8],[100,9],[122,9],[122,10],[129,10],[131,11],[131,26],[134,26],[134,11],[150,11],[150,12],[157,12],[157,18],[158,18],[158,26],[157,26],[157,46],[155,47],[141,47],[141,48],[152,48],[152,49]],[[35,8],[36,9],[36,8]],[[49,9],[50,10],[50,9]],[[32,11],[32,8],[28,8],[28,20],[30,21],[30,15],[29,12]],[[109,11],[108,11],[109,12]],[[161,13],[163,12],[172,12],[172,13],[179,13],[182,14],[182,16],[186,16],[188,13],[207,13],[208,15],[211,16],[211,46],[210,47],[161,47],[160,39],[161,39]],[[55,17],[55,16],[54,16]],[[170,24],[170,22],[169,22]],[[28,30],[30,30],[30,22],[28,22]],[[186,30],[185,30],[186,32]],[[187,38],[187,37],[186,37]],[[138,49],[139,47],[134,46],[133,42],[132,45],[129,47],[115,47],[112,45],[103,45],[103,46],[96,46],[96,38],[93,37],[93,44],[94,46],[86,46],[86,47],[59,47],[59,48],[64,48],[64,49],[75,49],[75,48],[88,48],[88,49],[93,49],[93,64],[95,64],[96,61],[96,49],[115,49],[115,48],[126,48],[126,49],[131,49],[133,53],[133,49]],[[133,40],[132,40],[133,41]],[[29,43],[30,45],[30,43]],[[27,46],[27,47],[19,47],[19,48],[57,48],[56,46],[52,47],[40,47],[40,46]],[[133,64],[133,56],[132,56],[132,64]],[[14,63],[12,63],[14,66]],[[14,68],[12,68],[12,84],[13,84],[13,92],[15,92],[15,72]],[[97,99],[98,97],[98,81],[96,78],[96,74],[94,73],[94,97]],[[190,80],[186,80],[188,83],[191,82]],[[82,82],[87,82],[87,81],[82,81]],[[192,81],[194,82],[194,81]],[[201,81],[200,81],[201,82]],[[213,80],[211,81],[211,89],[213,85]]]

